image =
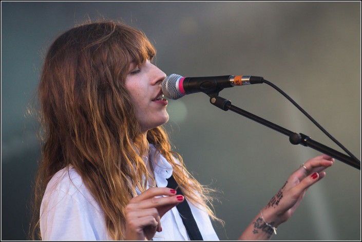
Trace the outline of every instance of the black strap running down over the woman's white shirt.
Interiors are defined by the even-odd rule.
[[[178,187],[178,184],[174,178],[174,176],[171,176],[167,179],[168,184],[167,187],[171,189],[175,189],[177,191],[178,195],[183,195],[181,189]],[[176,189],[177,188],[177,189]],[[190,240],[203,240],[199,227],[197,227],[195,218],[191,212],[190,207],[188,206],[188,203],[186,199],[182,201],[182,203],[178,204],[176,206],[177,210],[179,210],[179,213],[182,218],[182,222],[186,228],[188,237]]]

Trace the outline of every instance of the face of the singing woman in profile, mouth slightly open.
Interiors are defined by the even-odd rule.
[[[126,88],[134,100],[137,117],[143,131],[168,121],[167,100],[163,97],[160,83],[166,74],[147,60],[141,66],[132,63],[126,77]]]

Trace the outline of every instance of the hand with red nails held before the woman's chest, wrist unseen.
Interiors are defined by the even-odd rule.
[[[184,196],[176,195],[175,190],[167,187],[150,188],[132,198],[125,210],[125,240],[152,239],[156,231],[162,231],[161,217],[183,199]]]

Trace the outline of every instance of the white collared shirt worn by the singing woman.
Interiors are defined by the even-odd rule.
[[[156,184],[166,187],[166,179],[173,172],[172,166],[162,155],[156,155],[153,145],[149,148]],[[158,158],[157,162],[155,158]],[[202,238],[219,240],[205,209],[188,204]],[[156,232],[154,240],[189,240],[176,207],[162,216],[161,225],[162,231]],[[111,239],[107,235],[102,209],[72,167],[69,167],[69,172],[67,168],[60,170],[49,181],[41,205],[40,229],[43,240]]]

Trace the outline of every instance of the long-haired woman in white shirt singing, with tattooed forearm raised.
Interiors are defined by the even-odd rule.
[[[187,172],[162,128],[166,75],[151,62],[155,53],[142,32],[113,22],[75,27],[50,46],[38,90],[44,144],[33,231],[42,239],[187,240],[181,203],[204,240],[218,239],[211,190]],[[240,239],[269,239],[333,162],[321,155],[303,164]],[[181,190],[166,187],[170,177]]]

